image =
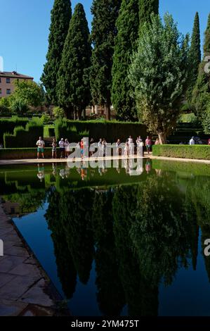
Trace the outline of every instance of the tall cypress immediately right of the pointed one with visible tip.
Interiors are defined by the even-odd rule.
[[[112,62],[114,38],[117,35],[116,20],[122,0],[93,0],[91,41],[91,94],[94,104],[107,108],[110,119]]]

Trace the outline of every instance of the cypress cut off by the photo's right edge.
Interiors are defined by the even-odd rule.
[[[192,92],[192,106],[199,119],[202,119],[210,102],[210,68],[207,56],[210,56],[210,13],[205,31],[204,58],[199,65],[197,82]]]

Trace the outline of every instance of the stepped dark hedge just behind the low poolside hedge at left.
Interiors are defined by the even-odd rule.
[[[39,137],[43,137],[44,125],[41,120],[32,120],[26,127],[15,127],[13,135],[4,134],[4,147],[34,147]]]

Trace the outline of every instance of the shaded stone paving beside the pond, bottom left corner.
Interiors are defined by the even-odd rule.
[[[60,297],[1,205],[0,239],[0,316],[54,316]]]

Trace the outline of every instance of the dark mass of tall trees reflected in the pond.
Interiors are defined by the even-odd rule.
[[[190,258],[196,268],[197,212],[174,176],[159,173],[110,188],[51,189],[48,203],[65,295],[72,297],[77,275],[87,284],[95,259],[96,296],[105,315],[119,316],[127,305],[129,316],[157,316],[160,282],[170,285]]]

